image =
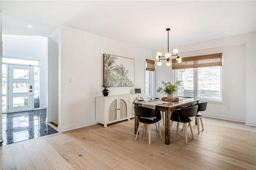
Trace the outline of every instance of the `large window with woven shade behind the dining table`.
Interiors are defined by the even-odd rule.
[[[174,81],[182,81],[176,96],[222,101],[222,53],[172,60]]]

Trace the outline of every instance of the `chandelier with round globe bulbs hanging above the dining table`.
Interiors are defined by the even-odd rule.
[[[170,54],[170,53],[169,53],[169,31],[170,31],[170,28],[167,28],[166,31],[167,31],[167,39],[168,39],[168,43],[167,43],[167,45],[168,45],[168,51],[167,51],[167,53],[166,53],[164,56],[162,56],[162,53],[160,53],[160,52],[157,53],[156,59],[158,60],[158,62],[157,62],[157,65],[158,65],[158,66],[161,66],[161,65],[162,65],[161,60],[166,60],[166,65],[167,65],[167,66],[170,66],[170,61],[173,60],[173,59],[171,59],[170,57],[173,57],[173,56],[177,56],[176,60],[177,60],[178,63],[181,63],[181,62],[182,62],[181,57],[178,56],[178,49],[174,49],[174,50],[173,50],[173,53],[174,53],[174,54]]]

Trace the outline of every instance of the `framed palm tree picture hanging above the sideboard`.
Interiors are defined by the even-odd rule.
[[[134,86],[134,59],[103,54],[103,80],[111,87]]]

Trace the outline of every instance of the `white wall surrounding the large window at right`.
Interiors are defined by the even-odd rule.
[[[226,37],[211,41],[177,46],[181,57],[212,53],[223,53],[224,101],[221,104],[209,103],[206,116],[246,122],[256,126],[256,109],[253,96],[256,95],[256,33]],[[166,50],[159,50],[163,54]],[[157,51],[153,51],[155,56]],[[173,80],[173,71],[162,74],[167,66],[156,66],[156,80]],[[163,76],[165,75],[165,76]],[[171,78],[170,78],[171,77]],[[229,106],[229,110],[227,108]]]

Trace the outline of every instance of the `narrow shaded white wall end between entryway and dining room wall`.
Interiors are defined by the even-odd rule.
[[[58,124],[58,30],[48,38],[47,122]]]

